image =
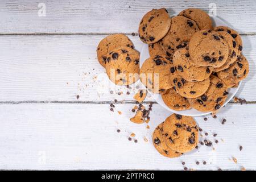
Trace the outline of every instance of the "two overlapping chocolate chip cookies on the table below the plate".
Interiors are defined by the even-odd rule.
[[[172,114],[155,128],[152,140],[160,154],[175,158],[197,146],[199,129],[192,117]]]

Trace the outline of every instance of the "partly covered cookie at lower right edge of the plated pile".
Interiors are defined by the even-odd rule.
[[[217,111],[228,97],[228,88],[217,76],[210,76],[210,86],[202,96],[188,99],[189,104],[201,112]]]

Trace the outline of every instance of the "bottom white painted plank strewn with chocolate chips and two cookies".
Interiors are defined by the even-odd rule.
[[[256,105],[228,105],[208,121],[197,117],[203,134],[218,144],[176,159],[158,154],[151,141],[154,128],[170,113],[153,105],[146,129],[129,121],[132,107],[118,104],[112,113],[109,105],[98,104],[0,105],[0,169],[183,169],[183,161],[193,169],[256,169]],[[138,143],[127,139],[131,133]]]

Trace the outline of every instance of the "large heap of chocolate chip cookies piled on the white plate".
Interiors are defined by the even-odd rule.
[[[139,37],[148,44],[140,79],[162,94],[173,110],[193,107],[217,111],[249,72],[241,36],[232,28],[213,27],[209,15],[187,9],[170,18],[166,9],[151,10],[139,24]]]

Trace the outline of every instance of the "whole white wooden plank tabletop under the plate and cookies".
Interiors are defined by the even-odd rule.
[[[213,143],[212,135],[218,134],[214,149],[199,145],[198,151],[180,158],[164,158],[154,149],[151,135],[170,113],[154,104],[150,129],[131,123],[133,94],[101,92],[101,79],[106,75],[98,64],[96,47],[106,35],[122,32],[140,51],[142,42],[131,33],[137,32],[139,20],[148,10],[166,7],[175,14],[197,7],[209,11],[212,2],[217,16],[242,35],[250,73],[237,97],[247,104],[230,102],[217,119],[210,115],[208,121],[196,118]],[[183,161],[193,169],[256,169],[255,7],[253,0],[2,0],[0,169],[179,170]],[[119,102],[111,112],[109,104],[114,99]],[[150,101],[148,97],[146,102]],[[225,125],[221,124],[223,118]],[[138,143],[127,139],[131,133]],[[204,160],[207,165],[202,164]]]

